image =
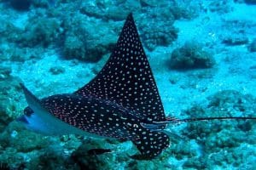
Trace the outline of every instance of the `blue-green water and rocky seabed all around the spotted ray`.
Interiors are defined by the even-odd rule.
[[[45,136],[15,121],[27,106],[20,82],[39,99],[83,87],[131,12],[166,116],[255,117],[255,11],[253,0],[1,1],[0,169],[256,169],[255,121],[170,124],[170,146],[150,161],[131,159],[131,141]]]

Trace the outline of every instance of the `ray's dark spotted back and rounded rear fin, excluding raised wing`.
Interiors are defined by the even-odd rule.
[[[133,156],[137,159],[152,159],[169,146],[166,133],[143,127],[143,120],[136,112],[131,113],[125,107],[106,99],[56,94],[41,99],[41,104],[61,121],[85,132],[131,140],[141,152],[141,155]],[[34,114],[28,107],[25,112],[27,116]]]

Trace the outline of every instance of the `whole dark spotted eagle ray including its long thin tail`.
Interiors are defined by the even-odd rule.
[[[47,135],[80,134],[131,140],[140,154],[152,159],[169,146],[164,129],[172,122],[253,117],[166,117],[132,14],[125,20],[107,64],[73,94],[35,97],[23,84],[28,106],[19,121]]]

